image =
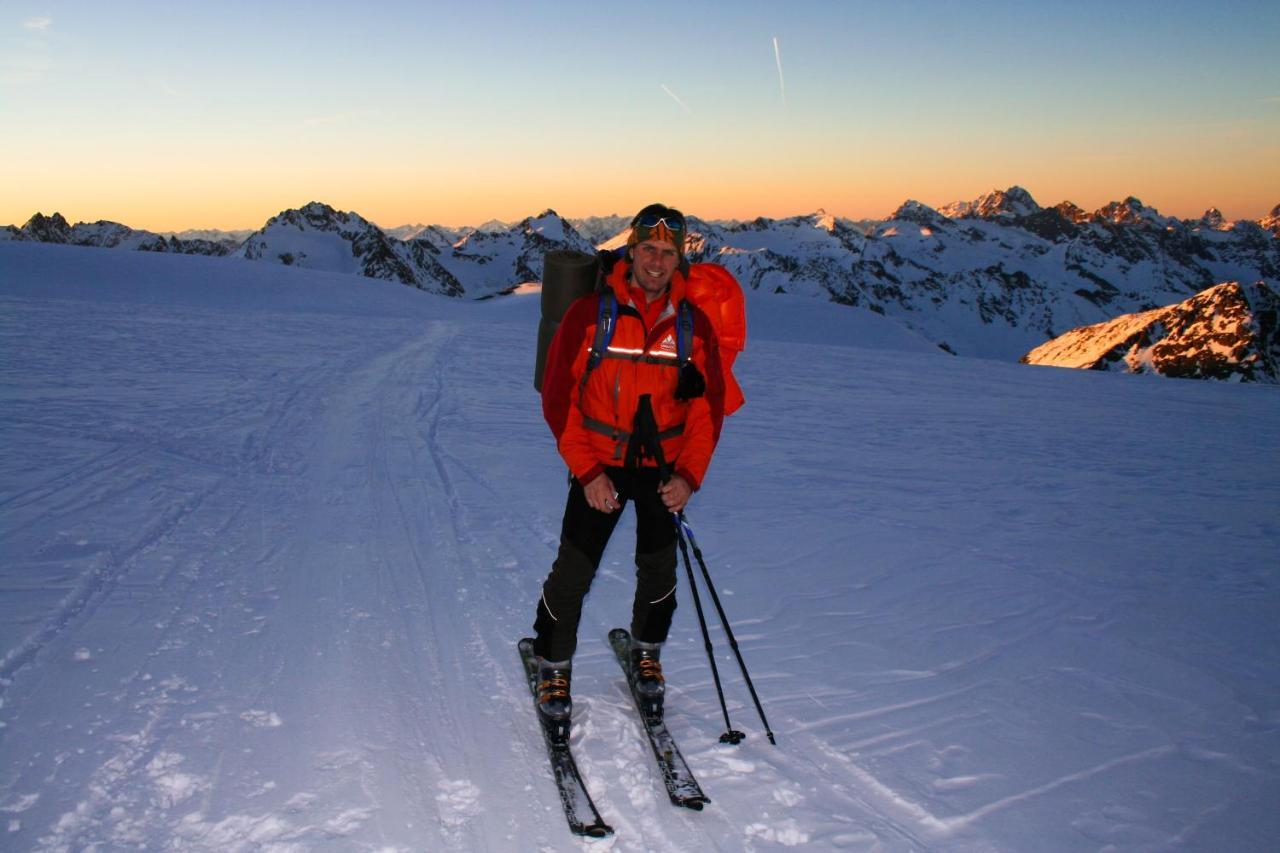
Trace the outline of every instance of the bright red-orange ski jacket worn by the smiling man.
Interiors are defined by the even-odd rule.
[[[618,300],[618,316],[609,352],[589,375],[586,362],[595,339],[599,295],[584,296],[564,314],[547,351],[543,416],[570,471],[586,485],[605,466],[623,465],[640,394],[649,394],[667,464],[698,489],[724,419],[724,383],[716,332],[707,315],[691,305],[690,361],[705,378],[707,392],[696,400],[676,400],[680,366],[675,306],[685,297],[685,279],[678,270],[672,275],[668,304],[649,329],[643,319],[644,306],[634,304],[627,287],[630,273],[630,264],[620,261],[609,275],[608,284]],[[653,465],[653,461],[645,464]]]

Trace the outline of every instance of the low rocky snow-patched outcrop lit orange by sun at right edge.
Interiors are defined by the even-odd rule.
[[[1165,377],[1280,382],[1280,297],[1262,282],[1225,282],[1153,311],[1074,329],[1027,364]]]

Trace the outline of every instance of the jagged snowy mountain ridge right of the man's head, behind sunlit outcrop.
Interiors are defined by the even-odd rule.
[[[694,259],[749,287],[860,305],[948,351],[992,359],[1219,282],[1280,284],[1280,240],[1256,222],[1184,222],[1133,197],[1093,213],[1042,207],[1020,187],[947,210],[909,200],[865,236],[819,215],[694,223]]]

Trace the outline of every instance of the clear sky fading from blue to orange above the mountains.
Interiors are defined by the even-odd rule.
[[[1280,4],[0,0],[0,223],[1280,202]]]

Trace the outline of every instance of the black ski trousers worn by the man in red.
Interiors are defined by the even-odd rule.
[[[579,482],[570,484],[559,553],[543,584],[534,621],[534,652],[548,661],[573,657],[582,599],[628,501],[636,508],[631,635],[645,643],[662,643],[671,630],[671,617],[676,612],[676,523],[658,494],[658,470],[609,467],[605,473],[618,491],[621,508],[614,512],[593,510]]]

